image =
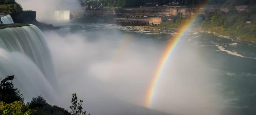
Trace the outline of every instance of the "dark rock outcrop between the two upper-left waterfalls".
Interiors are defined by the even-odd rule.
[[[36,20],[36,11],[22,11],[20,14],[13,15],[12,20],[14,23],[33,24],[41,30],[59,29],[59,27],[54,27],[52,24],[45,24],[45,23],[38,22]]]

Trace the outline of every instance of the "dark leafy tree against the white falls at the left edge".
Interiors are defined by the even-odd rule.
[[[13,103],[15,101],[23,101],[22,94],[20,90],[13,86],[12,80],[13,76],[8,76],[3,79],[0,83],[0,101],[5,103]]]

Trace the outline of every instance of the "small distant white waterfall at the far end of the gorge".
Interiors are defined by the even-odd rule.
[[[57,10],[54,12],[54,18],[58,21],[69,21],[70,10]]]

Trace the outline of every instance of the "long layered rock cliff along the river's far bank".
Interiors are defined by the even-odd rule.
[[[197,11],[201,13],[213,13],[217,11],[227,12],[229,10],[246,11],[249,12],[256,6],[235,6],[235,7],[223,7],[223,6],[207,6],[207,7],[186,7],[186,6],[171,6],[171,7],[144,7],[144,8],[123,8],[123,9],[84,9],[82,12],[72,12],[74,18],[96,15],[105,16],[114,14],[117,16],[137,16],[137,17],[163,17],[163,16],[178,16],[183,17],[192,16]]]

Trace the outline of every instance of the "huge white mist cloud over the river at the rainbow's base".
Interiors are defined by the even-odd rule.
[[[102,33],[94,38],[44,34],[61,87],[59,106],[68,108],[72,93],[92,115],[160,114],[154,110],[163,115],[221,115],[227,106],[203,54],[180,43],[157,83],[150,110],[145,109],[145,94],[165,44],[118,31],[113,36]]]

